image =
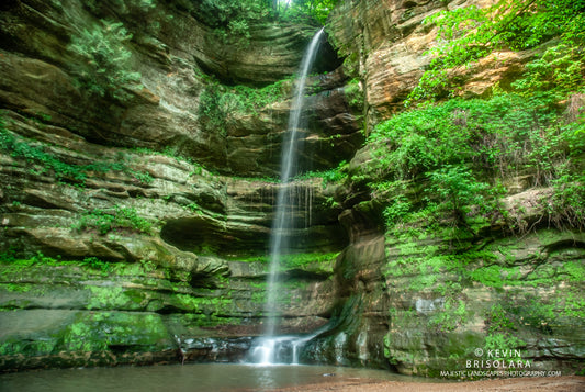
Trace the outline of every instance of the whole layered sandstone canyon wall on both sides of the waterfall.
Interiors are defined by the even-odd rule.
[[[293,75],[318,29],[267,21],[236,44],[189,1],[151,4],[0,5],[2,370],[177,361],[175,336],[188,360],[238,360],[261,333]],[[365,135],[428,65],[421,21],[465,4],[340,0],[329,16],[279,299],[282,333],[326,326],[306,362],[439,376],[490,359],[487,336],[532,369],[575,372],[585,356],[585,237],[545,224],[550,189],[510,179],[506,205],[538,222],[525,235],[405,239],[383,225],[397,194],[367,184]],[[72,45],[115,23],[127,34],[110,46],[131,56],[112,70],[139,81],[94,93]],[[535,53],[463,70],[461,94],[506,87]],[[330,179],[342,161],[356,176]]]

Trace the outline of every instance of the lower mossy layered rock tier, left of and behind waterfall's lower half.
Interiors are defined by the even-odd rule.
[[[20,115],[4,121],[33,133],[41,126]],[[140,359],[147,352],[168,361],[175,358],[172,334],[225,339],[261,332],[268,233],[282,184],[212,175],[184,159],[93,145],[63,130],[41,127],[35,139],[44,143],[11,137],[33,155],[58,157],[71,172],[85,163],[115,166],[105,166],[105,172],[80,171],[88,176],[83,180],[66,173],[59,182],[44,172],[43,160],[2,155],[0,178],[9,186],[0,220],[0,306],[15,310],[1,316],[3,325],[14,325],[2,335],[3,369],[29,366],[11,352],[41,356],[47,366],[140,362],[147,361]],[[304,332],[324,324],[323,315],[330,313],[335,298],[328,278],[345,234],[337,211],[318,208],[330,192],[320,179],[291,186],[302,202],[300,228],[291,242],[304,258],[283,270],[288,290],[280,301],[286,304],[288,322],[282,328]],[[324,253],[331,255],[329,261],[323,261]],[[30,322],[38,310],[53,320],[50,327]],[[133,327],[124,327],[123,321]],[[18,327],[22,323],[29,324],[24,333]],[[153,323],[156,334],[146,334],[145,325]],[[125,337],[112,335],[120,328]],[[82,344],[83,331],[90,329],[105,335]],[[64,350],[68,354],[57,355]],[[79,350],[130,354],[95,354],[82,362]]]

